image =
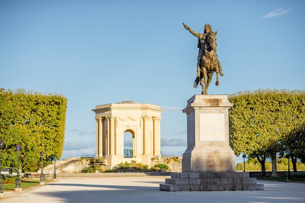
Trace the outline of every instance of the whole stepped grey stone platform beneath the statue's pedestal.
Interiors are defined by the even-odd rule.
[[[166,191],[264,190],[248,172],[180,172],[160,184]]]

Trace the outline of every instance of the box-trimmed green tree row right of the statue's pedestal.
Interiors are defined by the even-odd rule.
[[[264,175],[265,160],[271,158],[272,176],[277,176],[276,154],[288,147],[283,140],[295,135],[292,132],[299,126],[304,129],[305,92],[259,89],[232,94],[229,101],[234,104],[229,110],[232,149],[256,157]]]

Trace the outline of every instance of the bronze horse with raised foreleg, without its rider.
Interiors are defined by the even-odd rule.
[[[216,72],[217,79],[215,85],[219,85],[219,64],[218,64],[218,56],[216,54],[216,34],[210,33],[206,36],[204,42],[204,54],[201,58],[201,66],[200,68],[200,76],[196,78],[194,83],[194,88],[197,88],[198,83],[200,81],[200,85],[202,86],[201,94],[208,94],[208,87],[212,80],[213,73]],[[197,65],[199,66],[199,65]]]

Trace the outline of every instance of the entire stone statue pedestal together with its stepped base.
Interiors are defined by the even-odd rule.
[[[236,172],[236,159],[229,146],[228,95],[194,95],[183,112],[187,114],[188,148],[182,173],[160,184],[161,190],[256,190],[255,178]]]

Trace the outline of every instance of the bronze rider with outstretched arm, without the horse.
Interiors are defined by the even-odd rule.
[[[198,37],[197,47],[199,48],[199,52],[198,52],[198,61],[197,61],[197,77],[200,77],[200,67],[202,66],[202,64],[201,64],[202,60],[201,59],[202,59],[202,56],[204,55],[204,52],[205,52],[205,49],[206,49],[204,47],[204,44],[205,44],[206,37],[208,37],[210,34],[214,34],[212,32],[212,27],[209,24],[206,24],[205,27],[204,27],[204,33],[201,34],[201,33],[195,33],[189,26],[187,26],[184,23],[182,23],[182,24],[184,25],[185,29],[190,31],[191,34]],[[219,59],[218,59],[218,55],[216,53],[216,49],[215,49],[215,54],[217,56],[219,73],[220,73],[221,76],[224,76],[224,73],[222,72],[221,65],[220,65],[220,62],[219,62]]]

